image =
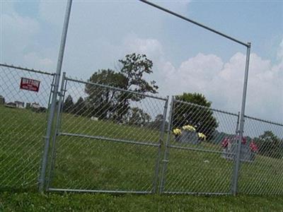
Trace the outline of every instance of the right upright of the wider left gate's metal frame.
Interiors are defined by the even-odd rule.
[[[163,139],[164,139],[164,131],[165,131],[165,123],[166,123],[166,114],[167,114],[167,109],[168,109],[168,101],[169,101],[169,96],[167,96],[167,100],[164,105],[164,110],[163,110],[163,119],[162,119],[162,124],[161,124],[161,131],[160,131],[160,139],[158,142],[158,155],[156,159],[156,167],[155,167],[155,174],[154,174],[154,190],[153,193],[156,193],[156,187],[157,187],[157,182],[158,182],[158,174],[159,174],[159,163],[160,163],[160,157],[161,157],[161,146],[163,144]]]

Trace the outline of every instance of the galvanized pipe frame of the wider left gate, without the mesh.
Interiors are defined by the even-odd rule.
[[[112,90],[120,90],[125,93],[133,93],[136,95],[141,95],[146,98],[151,98],[151,99],[156,99],[156,100],[162,100],[164,102],[164,107],[163,107],[163,119],[162,119],[162,124],[161,124],[161,129],[160,129],[160,134],[159,134],[159,139],[158,143],[151,143],[150,141],[131,141],[129,139],[112,139],[108,138],[105,136],[91,136],[87,134],[74,134],[74,133],[68,133],[61,131],[61,124],[62,124],[62,106],[65,98],[65,93],[67,91],[67,83],[68,81],[74,82],[74,83],[83,83],[83,84],[88,84],[88,85],[93,85],[93,86],[98,86],[99,88],[110,88]],[[163,144],[163,137],[165,134],[165,124],[166,124],[166,114],[167,114],[167,109],[168,109],[168,96],[167,98],[161,98],[157,97],[154,95],[148,95],[148,94],[142,94],[142,93],[137,93],[133,90],[125,90],[122,88],[115,88],[112,86],[106,86],[98,83],[92,83],[89,81],[82,81],[74,78],[69,78],[66,76],[66,74],[63,74],[63,80],[62,80],[62,86],[61,86],[61,92],[59,95],[59,105],[57,109],[57,120],[55,124],[55,132],[54,132],[54,137],[53,137],[53,143],[52,143],[52,156],[51,156],[51,166],[49,170],[49,175],[48,175],[48,183],[47,183],[47,188],[46,191],[50,192],[100,192],[100,193],[131,193],[131,194],[154,194],[157,191],[158,187],[158,175],[159,175],[159,164],[160,164],[160,157],[161,157],[161,146]],[[102,141],[112,141],[112,142],[117,142],[117,143],[129,143],[129,144],[134,144],[134,145],[141,145],[141,146],[153,146],[156,147],[157,150],[157,157],[156,157],[156,162],[155,162],[155,167],[154,167],[154,179],[152,183],[152,190],[151,192],[146,192],[146,191],[122,191],[122,190],[115,190],[115,191],[110,191],[110,190],[93,190],[93,189],[64,189],[64,188],[54,188],[52,187],[52,175],[54,172],[54,164],[55,164],[55,158],[56,158],[56,141],[59,139],[59,136],[74,136],[74,137],[80,137],[80,138],[86,138],[86,139],[94,139],[94,140],[102,140]]]

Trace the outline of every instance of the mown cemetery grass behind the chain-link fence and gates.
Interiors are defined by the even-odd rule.
[[[0,117],[0,189],[35,190],[42,157],[46,114],[0,107]],[[159,139],[158,130],[93,122],[71,114],[63,114],[61,131],[155,144]],[[172,138],[171,142],[174,142]],[[220,146],[212,143],[202,143],[195,147],[221,150]],[[161,152],[163,153],[163,148]],[[156,146],[59,136],[50,186],[151,192],[157,153]],[[172,148],[164,191],[229,193],[232,170],[233,162],[221,158],[219,153]],[[239,192],[282,194],[282,176],[282,160],[257,155],[255,162],[241,165]],[[40,198],[45,199],[41,196]]]

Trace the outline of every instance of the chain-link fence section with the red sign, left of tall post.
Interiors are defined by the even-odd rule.
[[[0,190],[37,188],[53,80],[0,64]]]

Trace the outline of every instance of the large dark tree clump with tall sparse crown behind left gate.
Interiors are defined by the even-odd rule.
[[[145,54],[127,54],[125,59],[119,60],[119,63],[118,72],[110,69],[99,70],[93,73],[89,81],[124,90],[134,90],[138,93],[157,93],[156,82],[148,82],[144,79],[145,74],[153,72],[153,63]],[[122,117],[129,111],[131,101],[144,98],[143,95],[91,84],[87,84],[85,90],[88,94],[87,105],[92,108],[93,115],[100,119],[117,119],[118,122],[121,122]]]

